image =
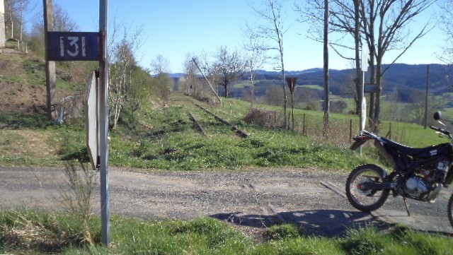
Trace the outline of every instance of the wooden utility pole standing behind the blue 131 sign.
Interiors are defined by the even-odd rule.
[[[47,48],[47,32],[53,31],[52,0],[43,0],[44,9],[44,40]],[[46,51],[45,56],[45,88],[47,90],[47,118],[52,119],[52,105],[55,104],[57,94],[57,78],[55,76],[55,61],[49,61]]]

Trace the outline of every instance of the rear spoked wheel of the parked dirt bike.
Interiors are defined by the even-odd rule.
[[[348,176],[346,181],[346,196],[357,210],[370,212],[380,208],[387,197],[390,189],[359,189],[360,184],[365,182],[384,182],[385,170],[373,164],[360,165],[356,167]]]

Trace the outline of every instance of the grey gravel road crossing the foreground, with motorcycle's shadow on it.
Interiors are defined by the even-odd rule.
[[[110,213],[183,220],[208,215],[249,230],[277,222],[296,223],[326,237],[382,221],[453,232],[446,213],[448,191],[435,204],[409,201],[411,217],[402,199],[392,197],[369,215],[350,206],[344,197],[345,179],[346,174],[316,169],[144,172],[113,168],[109,171]],[[57,168],[0,167],[0,180],[0,209],[61,210],[59,201],[69,191],[64,170]],[[98,213],[98,182],[95,186],[93,211]]]

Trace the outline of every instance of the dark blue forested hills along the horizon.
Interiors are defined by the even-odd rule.
[[[386,69],[389,65],[383,65]],[[384,73],[382,82],[383,95],[388,95],[394,90],[406,92],[426,89],[427,83],[426,64],[393,64]],[[365,73],[365,83],[369,81]],[[174,73],[172,77],[181,77],[183,73]],[[297,77],[297,85],[319,85],[323,87],[323,69],[307,69],[302,71],[286,71],[286,76]],[[353,85],[355,78],[354,69],[329,70],[330,90],[334,95],[344,95],[346,88]],[[450,81],[452,78],[452,81]],[[280,84],[280,73],[276,71],[257,71],[256,95],[263,95],[270,85]],[[247,76],[243,81],[248,80]],[[453,92],[453,66],[430,64],[429,87],[430,93],[440,95],[445,92]],[[231,88],[232,97],[241,97],[243,90],[248,88]],[[222,93],[221,93],[222,94]]]

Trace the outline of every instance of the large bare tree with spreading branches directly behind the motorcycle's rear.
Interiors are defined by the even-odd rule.
[[[391,64],[394,64],[416,40],[430,31],[428,27],[430,25],[429,20],[423,24],[423,27],[415,35],[411,35],[408,24],[413,21],[415,16],[418,16],[418,14],[434,4],[435,1],[369,0],[367,4],[362,3],[360,16],[362,16],[362,32],[370,54],[370,83],[377,84],[377,91],[371,93],[369,102],[369,121],[370,126],[374,130],[379,128],[382,76],[391,66],[389,65],[383,69],[382,61],[384,55],[388,51],[398,50],[399,54],[391,61]],[[374,63],[376,64],[376,70],[374,70]]]

